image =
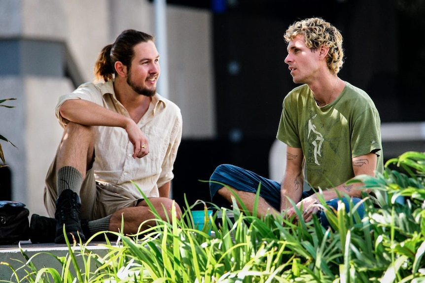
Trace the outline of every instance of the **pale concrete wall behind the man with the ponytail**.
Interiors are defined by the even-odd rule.
[[[155,35],[147,0],[0,0],[1,142],[12,172],[12,199],[45,215],[44,178],[61,139],[54,108],[74,84],[94,79],[101,49],[124,29]],[[167,6],[169,98],[180,106],[183,137],[214,136],[211,15]],[[193,24],[196,23],[196,24]],[[67,72],[72,74],[72,80]],[[161,78],[160,78],[161,79]],[[1,199],[1,196],[0,196]]]

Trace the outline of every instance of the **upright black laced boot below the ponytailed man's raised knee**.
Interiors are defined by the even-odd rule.
[[[55,243],[65,243],[64,224],[70,243],[73,242],[72,238],[75,238],[76,241],[79,241],[79,238],[81,238],[81,241],[86,240],[81,229],[80,209],[81,202],[78,194],[71,189],[64,190],[56,200],[55,218],[58,222],[56,224]]]

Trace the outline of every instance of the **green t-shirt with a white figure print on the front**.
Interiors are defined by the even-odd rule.
[[[381,120],[372,99],[347,83],[331,103],[319,107],[307,85],[283,99],[277,138],[301,148],[307,182],[328,189],[354,177],[352,158],[377,153],[376,170],[382,172]]]

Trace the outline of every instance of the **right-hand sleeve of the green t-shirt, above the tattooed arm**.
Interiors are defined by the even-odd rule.
[[[371,152],[381,155],[381,119],[376,108],[368,108],[355,119],[351,147],[352,157]]]

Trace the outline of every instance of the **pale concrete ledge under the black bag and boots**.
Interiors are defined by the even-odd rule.
[[[69,254],[69,248],[65,244],[33,244],[30,241],[21,241],[20,243],[22,251],[28,255],[32,262],[34,263],[37,270],[43,267],[55,268],[59,274],[62,273],[62,264],[59,262],[58,257],[64,257]],[[19,279],[22,279],[30,269],[27,267],[25,269],[19,269],[24,266],[26,263],[25,257],[22,255],[19,248],[19,244],[16,245],[3,245],[0,246],[0,262],[9,263],[15,270]],[[87,246],[76,245],[73,250],[75,254],[80,254],[81,249],[85,252],[93,252],[104,257],[109,251],[102,244],[106,242],[91,242]],[[76,256],[78,266],[80,269],[84,268],[83,260],[81,256]],[[72,264],[71,264],[72,265]],[[95,268],[94,264],[91,268]],[[84,270],[82,270],[84,272]],[[0,280],[15,281],[13,276],[13,271],[9,266],[0,264]]]

